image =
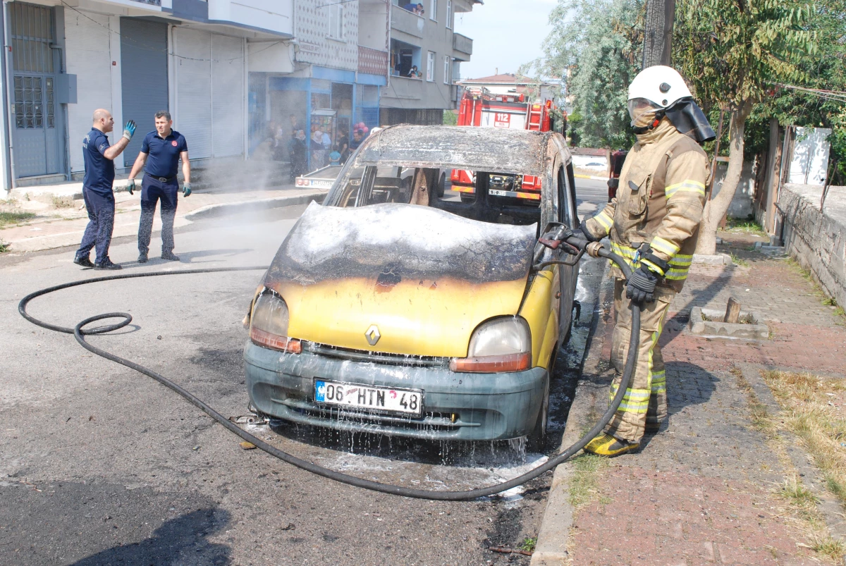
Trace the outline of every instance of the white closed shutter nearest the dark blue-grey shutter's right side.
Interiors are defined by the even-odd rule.
[[[188,141],[190,157],[211,157],[211,34],[178,28],[174,32],[176,112],[173,129]]]

